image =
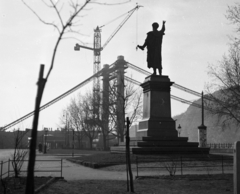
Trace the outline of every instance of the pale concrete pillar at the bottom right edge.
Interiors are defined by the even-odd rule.
[[[240,141],[234,144],[233,160],[233,190],[234,194],[240,194]]]

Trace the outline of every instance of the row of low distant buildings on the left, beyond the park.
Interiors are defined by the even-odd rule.
[[[31,141],[31,129],[26,129],[25,131],[20,131],[23,134],[23,144],[29,147]],[[14,139],[17,132],[5,132],[0,131],[0,149],[14,149]],[[134,132],[133,132],[134,133]],[[89,149],[90,143],[86,134],[83,131],[75,131],[73,138],[73,131],[70,129],[66,131],[61,130],[42,130],[37,133],[37,147],[39,144],[47,145],[49,149],[64,149],[73,147],[75,149]],[[117,137],[114,135],[109,135],[108,146],[116,145]],[[93,138],[92,148],[103,149],[103,138],[101,134],[96,133],[96,137]]]

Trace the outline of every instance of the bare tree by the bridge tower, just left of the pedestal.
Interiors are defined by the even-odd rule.
[[[142,91],[129,82],[125,85],[122,82],[122,84],[124,91],[119,92],[116,87],[117,80],[113,80],[109,85],[109,90],[101,92],[102,97],[99,98],[101,100],[95,101],[95,103],[99,103],[95,106],[100,108],[95,122],[102,135],[104,150],[109,149],[109,141],[113,137],[117,137],[118,142],[119,140],[124,141],[125,117],[129,117],[130,127],[142,114]],[[109,95],[104,95],[104,92],[108,92]],[[104,96],[109,97],[105,99]]]

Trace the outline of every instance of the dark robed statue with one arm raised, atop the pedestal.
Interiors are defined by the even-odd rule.
[[[163,21],[162,29],[158,31],[158,23],[153,23],[153,31],[147,33],[147,38],[144,45],[137,46],[141,50],[147,46],[147,63],[148,68],[153,68],[153,75],[156,75],[158,69],[159,75],[162,75],[162,39],[165,32],[165,23]]]

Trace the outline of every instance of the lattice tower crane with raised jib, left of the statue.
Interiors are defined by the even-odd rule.
[[[120,25],[113,31],[113,33],[111,34],[111,36],[107,39],[107,41],[105,42],[105,44],[103,45],[103,47],[101,47],[101,29],[103,26],[98,27],[96,29],[94,29],[94,38],[93,38],[93,48],[91,47],[86,47],[83,45],[80,45],[78,43],[76,43],[74,50],[75,51],[79,51],[80,48],[84,48],[84,49],[89,49],[89,50],[93,50],[93,74],[96,74],[97,72],[99,72],[101,70],[101,51],[107,46],[107,44],[112,40],[112,38],[117,34],[117,32],[122,28],[122,26],[127,22],[127,20],[132,16],[132,14],[138,10],[140,7],[140,5],[137,5],[135,8],[131,9],[130,11],[128,11],[127,16],[124,18],[124,20],[120,23]],[[123,14],[123,15],[125,15]],[[100,91],[100,78],[96,77],[93,80],[93,98],[94,101],[95,100],[99,100],[99,91]]]

